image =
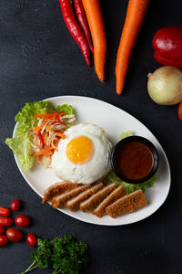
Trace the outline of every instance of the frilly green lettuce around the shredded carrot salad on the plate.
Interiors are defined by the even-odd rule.
[[[50,101],[42,100],[25,103],[22,110],[15,116],[15,121],[18,122],[15,130],[15,138],[7,138],[5,143],[15,153],[18,162],[25,172],[30,171],[35,162],[35,157],[31,156],[32,137],[27,133],[29,129],[35,127],[37,124],[37,119],[34,118],[34,115],[54,111],[66,111],[66,114],[76,114],[72,106],[65,104],[55,108]]]

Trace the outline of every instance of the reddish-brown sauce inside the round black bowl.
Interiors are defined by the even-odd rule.
[[[153,154],[142,142],[126,142],[118,150],[116,164],[120,173],[130,180],[139,180],[150,173]]]

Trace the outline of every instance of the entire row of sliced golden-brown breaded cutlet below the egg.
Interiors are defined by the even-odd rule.
[[[66,206],[72,212],[81,209],[83,212],[92,212],[97,217],[104,215],[115,218],[134,212],[147,205],[143,191],[126,195],[122,185],[103,183],[74,184],[67,181],[51,185],[45,190],[43,203],[51,200],[55,208]]]

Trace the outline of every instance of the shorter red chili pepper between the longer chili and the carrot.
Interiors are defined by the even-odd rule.
[[[82,4],[82,0],[74,0],[74,5],[76,10],[77,20],[81,26],[83,33],[86,36],[86,40],[88,42],[88,46],[90,47],[90,51],[94,53],[94,47],[92,46],[90,31],[86,22],[86,15],[84,11],[84,6]]]

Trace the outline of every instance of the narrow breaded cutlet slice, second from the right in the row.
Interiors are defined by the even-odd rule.
[[[96,209],[93,211],[93,214],[97,217],[104,216],[106,214],[106,206],[113,204],[116,202],[116,200],[125,195],[125,188],[122,185],[118,186],[110,195],[106,196],[102,203],[96,207]]]

